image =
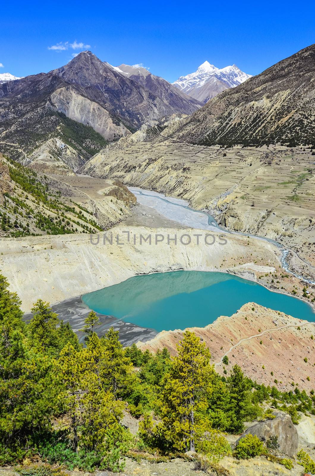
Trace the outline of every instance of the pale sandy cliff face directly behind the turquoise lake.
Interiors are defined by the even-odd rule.
[[[127,234],[130,231],[130,241]],[[30,310],[32,304],[40,297],[50,303],[78,296],[96,289],[117,284],[136,274],[177,269],[195,269],[217,271],[225,268],[225,262],[237,260],[243,267],[236,269],[231,264],[231,271],[246,278],[255,278],[255,265],[252,262],[257,250],[264,256],[269,267],[262,270],[275,270],[279,266],[278,252],[269,243],[246,237],[228,238],[226,245],[217,239],[213,245],[206,245],[200,239],[199,245],[167,244],[167,235],[180,237],[183,233],[198,233],[195,229],[154,229],[144,227],[115,227],[108,230],[106,236],[113,236],[113,244],[99,235],[99,242],[93,245],[89,235],[59,235],[28,238],[0,239],[0,269],[8,278],[10,287],[22,300],[22,308]],[[149,242],[139,244],[140,235],[148,237]],[[204,237],[205,231],[199,233]],[[136,244],[134,244],[134,234]],[[163,235],[163,242],[155,244],[155,235]],[[119,237],[117,244],[116,237]],[[218,235],[214,234],[217,238]],[[157,238],[160,239],[160,238]],[[93,236],[97,243],[98,235]],[[212,241],[212,239],[211,239]],[[252,253],[252,256],[251,256]],[[223,265],[223,266],[222,266]],[[221,268],[222,266],[222,268]],[[259,267],[258,267],[259,269]],[[259,271],[260,272],[260,271]]]

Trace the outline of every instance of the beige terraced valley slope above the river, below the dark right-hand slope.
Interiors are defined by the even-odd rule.
[[[221,226],[273,238],[315,265],[310,147],[190,145],[167,139],[185,119],[166,122],[171,124],[161,123],[160,134],[152,126],[100,151],[82,173],[184,198],[192,208],[207,210]],[[314,274],[314,269],[305,265],[303,273]]]

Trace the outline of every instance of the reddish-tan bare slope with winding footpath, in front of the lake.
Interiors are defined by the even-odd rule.
[[[231,317],[221,316],[207,327],[189,330],[209,347],[211,360],[222,375],[224,368],[238,364],[248,377],[282,391],[294,388],[291,382],[307,390],[314,387],[314,323],[249,302]],[[138,346],[152,351],[167,347],[174,355],[183,332],[163,331]],[[222,363],[225,355],[228,366]]]

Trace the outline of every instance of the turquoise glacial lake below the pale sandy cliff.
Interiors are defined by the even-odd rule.
[[[129,278],[82,296],[96,312],[157,330],[204,327],[231,316],[243,304],[261,306],[315,322],[311,306],[296,297],[227,273],[172,271]]]

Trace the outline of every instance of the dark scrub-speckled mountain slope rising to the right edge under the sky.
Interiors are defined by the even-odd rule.
[[[315,45],[197,111],[173,138],[194,144],[315,143]]]

